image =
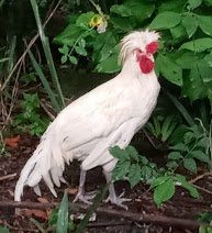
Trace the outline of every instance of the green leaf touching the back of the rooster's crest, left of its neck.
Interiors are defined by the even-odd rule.
[[[118,65],[118,54],[112,54],[107,59],[102,60],[94,68],[98,73],[116,73],[120,70],[120,66]]]

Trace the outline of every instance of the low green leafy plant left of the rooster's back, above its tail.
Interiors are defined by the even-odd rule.
[[[14,120],[14,126],[31,135],[42,135],[49,121],[40,114],[40,99],[37,93],[24,93],[21,102],[22,113]]]

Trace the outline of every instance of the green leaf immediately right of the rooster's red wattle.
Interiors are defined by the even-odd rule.
[[[159,73],[170,82],[182,86],[182,70],[168,56],[159,54],[156,59]]]

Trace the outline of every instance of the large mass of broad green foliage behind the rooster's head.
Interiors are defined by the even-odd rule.
[[[104,33],[97,32],[97,24],[89,24],[94,12],[71,14],[69,25],[54,41],[62,45],[63,63],[69,60],[76,65],[78,57],[87,56],[91,57],[96,71],[115,73],[120,69],[116,65],[120,38],[140,27],[157,30],[161,34],[157,71],[180,87],[183,97],[191,101],[208,98],[212,106],[211,10],[210,0],[124,0],[113,4],[109,15],[100,15],[107,21]],[[76,49],[81,38],[82,51]]]

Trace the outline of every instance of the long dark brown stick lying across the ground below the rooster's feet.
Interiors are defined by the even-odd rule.
[[[19,209],[52,209],[55,207],[58,207],[59,203],[38,203],[38,202],[15,202],[15,201],[0,201],[0,208],[19,208]],[[80,209],[83,211],[87,211],[89,206],[82,204],[82,203],[71,203],[71,209]],[[140,214],[135,212],[130,211],[123,211],[123,210],[111,210],[103,207],[99,207],[96,210],[98,213],[108,214],[116,218],[123,218],[131,220],[133,222],[142,222],[142,223],[153,223],[158,224],[163,226],[175,226],[180,229],[191,229],[197,230],[200,226],[200,223],[193,220],[185,220],[185,219],[177,219],[171,217],[163,217],[163,215],[154,215],[154,214]]]

